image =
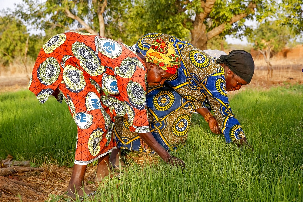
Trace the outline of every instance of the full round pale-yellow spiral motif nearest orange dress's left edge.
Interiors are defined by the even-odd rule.
[[[60,65],[56,58],[48,57],[37,70],[39,81],[45,85],[53,84],[59,77]]]

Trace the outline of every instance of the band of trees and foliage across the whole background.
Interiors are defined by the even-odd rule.
[[[247,36],[263,52],[271,46],[265,41],[282,42],[271,46],[276,51],[279,48],[273,47],[284,47],[302,34],[302,7],[301,0],[23,0],[15,11],[2,11],[0,57],[3,64],[20,55],[35,58],[46,40],[65,31],[89,32],[129,45],[146,33],[161,32],[202,50],[221,49],[229,34]],[[244,23],[253,19],[258,22],[255,30]],[[275,25],[266,29],[268,24]],[[43,34],[28,34],[26,25]],[[269,34],[273,32],[290,37],[261,40],[274,37]]]

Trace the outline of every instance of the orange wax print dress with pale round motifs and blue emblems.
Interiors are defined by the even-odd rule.
[[[29,90],[41,103],[55,95],[68,104],[78,127],[75,164],[86,165],[115,147],[115,116],[128,116],[132,132],[149,132],[145,63],[134,48],[112,39],[55,35],[39,52]]]

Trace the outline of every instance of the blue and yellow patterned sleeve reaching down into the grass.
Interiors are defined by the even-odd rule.
[[[215,113],[218,125],[226,142],[245,137],[240,123],[231,112],[225,88],[223,73],[214,73],[201,83],[205,95]]]

